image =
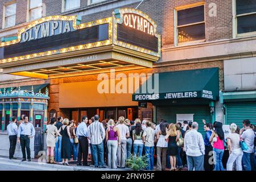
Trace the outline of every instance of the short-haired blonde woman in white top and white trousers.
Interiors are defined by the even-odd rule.
[[[235,123],[230,125],[231,133],[228,135],[229,159],[226,164],[227,171],[233,171],[233,163],[236,161],[237,171],[242,171],[243,151],[240,146],[240,135],[238,126]]]

